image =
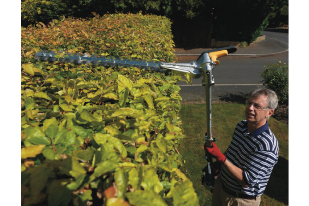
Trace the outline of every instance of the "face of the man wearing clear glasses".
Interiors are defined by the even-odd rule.
[[[248,99],[246,104],[245,116],[248,122],[264,125],[267,117],[273,114],[272,109],[265,109],[267,107],[267,96],[261,95],[258,98]]]

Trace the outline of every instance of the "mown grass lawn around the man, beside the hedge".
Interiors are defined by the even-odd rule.
[[[180,141],[179,152],[185,162],[181,170],[193,182],[200,205],[211,205],[212,194],[201,185],[202,169],[206,166],[203,149],[204,136],[207,131],[205,109],[205,104],[181,106],[180,117],[187,138]],[[245,120],[244,111],[244,104],[212,104],[212,134],[216,138],[216,145],[222,153],[226,151],[231,143],[236,124],[241,120]],[[288,205],[289,127],[271,117],[269,119],[269,128],[279,142],[279,160],[273,169],[264,194],[261,196],[260,205]]]

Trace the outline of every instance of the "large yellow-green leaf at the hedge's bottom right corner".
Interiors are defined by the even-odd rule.
[[[194,191],[193,183],[186,179],[171,190],[174,206],[195,206],[198,204],[197,194]]]

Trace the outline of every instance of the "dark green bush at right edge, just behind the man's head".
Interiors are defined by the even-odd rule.
[[[264,66],[261,77],[266,88],[276,92],[279,104],[288,104],[289,102],[289,66],[286,63],[269,63]]]

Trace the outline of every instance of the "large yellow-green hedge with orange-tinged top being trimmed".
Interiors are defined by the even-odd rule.
[[[22,27],[22,205],[197,205],[177,150],[181,76],[35,60],[40,50],[176,60],[168,19],[95,15]]]

